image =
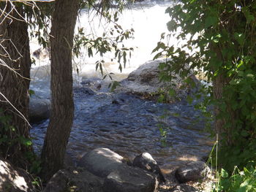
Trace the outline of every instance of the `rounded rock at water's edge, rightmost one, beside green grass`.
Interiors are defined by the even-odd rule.
[[[203,161],[192,161],[178,168],[175,175],[180,183],[186,183],[211,177],[211,169]]]

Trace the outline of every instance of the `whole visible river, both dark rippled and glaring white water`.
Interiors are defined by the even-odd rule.
[[[168,19],[165,9],[169,5],[167,1],[161,4],[159,1],[146,1],[124,11],[121,23],[135,28],[134,42],[129,43],[138,49],[130,66],[123,74],[116,76],[118,80],[127,77],[129,72],[152,58],[151,50],[157,44],[159,35],[165,31]],[[85,18],[88,17],[83,12],[80,25],[86,23]],[[92,59],[86,56],[80,59],[79,62],[83,63],[80,66],[81,74],[79,77],[74,74],[77,80],[74,83],[75,119],[67,147],[73,158],[78,159],[96,147],[108,147],[128,158],[143,152],[151,153],[162,168],[171,169],[189,159],[200,159],[208,154],[212,142],[208,134],[203,132],[205,123],[202,115],[194,110],[192,104],[186,101],[159,104],[124,93],[89,91],[80,85],[80,80],[99,77],[99,73],[94,72],[95,61]],[[113,70],[118,68],[116,64],[108,67]],[[31,89],[35,91],[35,96],[50,99],[48,72],[48,66],[32,69],[34,81],[31,82]],[[163,114],[166,117],[160,118]],[[42,148],[48,122],[44,120],[31,129],[37,151]],[[162,141],[159,124],[166,128],[165,142]]]

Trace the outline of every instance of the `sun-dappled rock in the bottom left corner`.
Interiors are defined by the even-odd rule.
[[[0,191],[31,192],[34,187],[27,172],[0,158]]]

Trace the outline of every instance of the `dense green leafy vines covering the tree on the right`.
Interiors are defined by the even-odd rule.
[[[182,0],[169,7],[155,58],[165,55],[170,72],[206,75],[202,106],[214,105],[219,162],[229,172],[256,159],[256,1]],[[165,66],[166,67],[166,66]],[[215,124],[217,125],[217,123]]]

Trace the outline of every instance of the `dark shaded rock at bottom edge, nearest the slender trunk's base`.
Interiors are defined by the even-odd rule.
[[[102,192],[104,180],[80,167],[61,169],[53,175],[44,192]]]

